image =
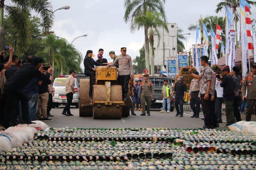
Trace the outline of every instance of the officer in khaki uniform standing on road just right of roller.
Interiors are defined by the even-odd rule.
[[[148,74],[143,74],[144,80],[140,84],[140,90],[139,90],[139,98],[141,100],[142,104],[142,116],[146,115],[145,106],[147,102],[147,114],[150,116],[150,105],[151,105],[151,96],[152,99],[154,99],[155,93],[153,84],[151,81],[148,80]]]

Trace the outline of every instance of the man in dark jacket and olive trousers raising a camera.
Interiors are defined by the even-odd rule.
[[[220,86],[223,87],[223,99],[225,101],[225,113],[227,118],[227,123],[224,127],[228,127],[233,123],[236,123],[233,111],[233,105],[235,100],[235,86],[234,79],[230,75],[229,66],[222,67],[223,78],[220,76],[218,81]],[[222,79],[221,79],[222,78]]]

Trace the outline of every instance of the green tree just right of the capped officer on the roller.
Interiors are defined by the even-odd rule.
[[[140,49],[140,56],[136,56],[133,60],[133,67],[135,74],[142,74],[143,70],[146,68],[145,63],[145,45]]]

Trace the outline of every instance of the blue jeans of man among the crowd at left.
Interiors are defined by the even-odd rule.
[[[38,94],[28,94],[28,115],[31,121],[36,120]]]

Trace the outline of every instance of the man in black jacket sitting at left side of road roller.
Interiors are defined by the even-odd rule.
[[[86,56],[84,58],[84,74],[86,76],[90,76],[90,90],[89,90],[89,98],[92,98],[92,89],[95,79],[95,71],[94,65],[101,66],[102,63],[97,63],[92,59],[92,50],[88,50],[86,52]]]

